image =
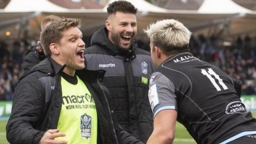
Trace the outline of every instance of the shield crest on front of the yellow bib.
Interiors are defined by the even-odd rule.
[[[81,116],[81,135],[82,137],[89,139],[91,138],[91,131],[92,131],[92,117],[89,115]]]

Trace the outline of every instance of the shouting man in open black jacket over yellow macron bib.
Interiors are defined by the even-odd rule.
[[[84,69],[78,19],[41,34],[46,59],[21,77],[6,126],[10,143],[136,143],[113,121],[104,71]]]

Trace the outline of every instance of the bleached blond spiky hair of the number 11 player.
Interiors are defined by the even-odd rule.
[[[188,49],[191,32],[174,19],[159,20],[144,30],[154,46],[168,53],[171,50]]]

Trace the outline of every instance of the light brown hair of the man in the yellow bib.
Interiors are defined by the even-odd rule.
[[[40,41],[43,46],[44,54],[51,55],[50,44],[59,43],[62,38],[63,31],[70,27],[80,27],[81,20],[75,18],[65,18],[53,21],[49,26],[45,27],[40,35]]]

